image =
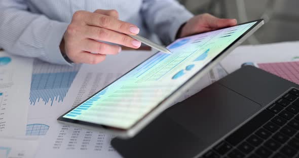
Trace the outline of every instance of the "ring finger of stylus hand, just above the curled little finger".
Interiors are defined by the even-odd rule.
[[[82,42],[83,50],[97,54],[118,54],[122,49],[117,45],[109,45],[102,42],[94,41],[93,39],[85,39]]]

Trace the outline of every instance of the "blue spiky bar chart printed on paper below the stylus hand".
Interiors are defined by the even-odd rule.
[[[34,60],[30,104],[40,102],[52,106],[55,102],[62,102],[79,68],[80,65],[53,65]]]

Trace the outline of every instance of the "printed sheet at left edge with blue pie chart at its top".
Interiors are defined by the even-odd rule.
[[[24,135],[32,59],[0,53],[0,136]]]

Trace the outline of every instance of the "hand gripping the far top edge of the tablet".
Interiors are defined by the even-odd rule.
[[[235,26],[236,19],[219,19],[210,14],[201,14],[191,18],[181,28],[178,37],[216,30],[223,27]]]

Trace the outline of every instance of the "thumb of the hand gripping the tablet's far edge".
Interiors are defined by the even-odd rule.
[[[212,15],[209,15],[208,24],[211,28],[222,28],[222,27],[229,27],[235,26],[237,24],[236,19],[219,19]]]

